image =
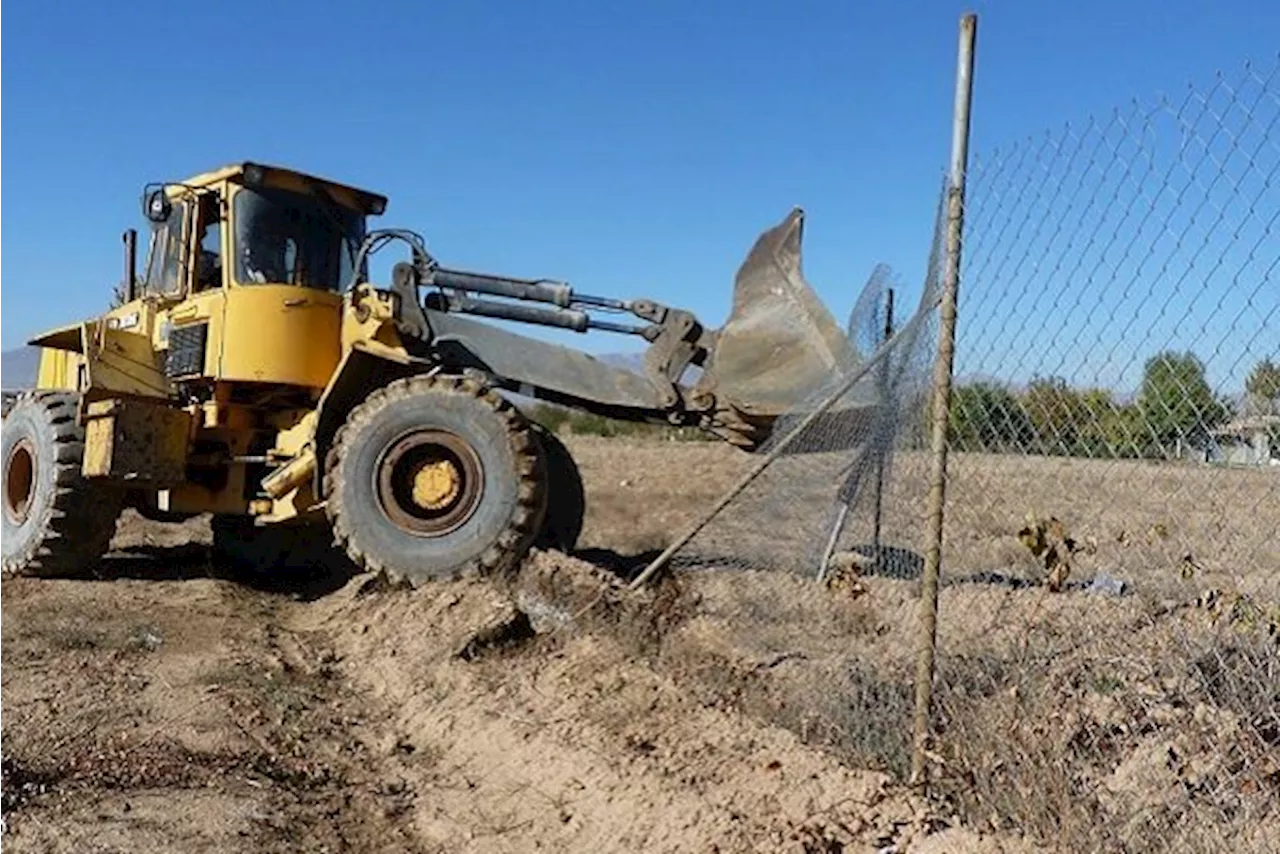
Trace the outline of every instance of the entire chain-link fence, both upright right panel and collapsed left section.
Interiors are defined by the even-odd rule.
[[[1280,61],[955,157],[919,301],[891,321],[878,269],[849,362],[659,558],[735,570],[708,620],[805,659],[774,717],[1037,850],[1280,850],[1277,124]]]

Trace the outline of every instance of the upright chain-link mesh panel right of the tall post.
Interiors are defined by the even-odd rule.
[[[1280,850],[1277,122],[1251,64],[970,166],[931,775],[973,826]]]

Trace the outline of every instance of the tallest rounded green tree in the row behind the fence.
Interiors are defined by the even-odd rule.
[[[1190,352],[1165,351],[1148,359],[1137,405],[1160,455],[1179,442],[1203,443],[1231,416],[1204,378],[1204,364]]]

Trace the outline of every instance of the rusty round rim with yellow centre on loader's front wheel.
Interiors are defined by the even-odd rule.
[[[397,439],[378,466],[378,501],[397,528],[443,536],[480,503],[484,471],[467,442],[445,430],[415,430]]]

